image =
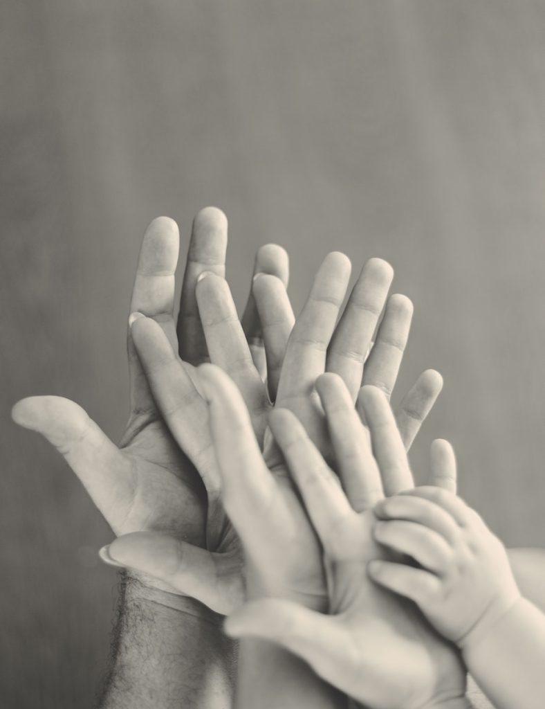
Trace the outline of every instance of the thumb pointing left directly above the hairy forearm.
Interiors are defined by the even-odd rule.
[[[239,555],[209,552],[163,532],[117,537],[101,549],[101,558],[164,581],[171,593],[195,598],[222,615],[243,598]]]

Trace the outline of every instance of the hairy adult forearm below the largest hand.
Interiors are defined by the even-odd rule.
[[[228,709],[235,663],[220,616],[190,598],[124,580],[100,707]]]

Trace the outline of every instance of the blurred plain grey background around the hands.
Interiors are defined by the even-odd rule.
[[[112,533],[18,398],[127,416],[140,240],[229,217],[291,255],[296,311],[328,250],[396,269],[415,318],[396,398],[444,392],[412,459],[452,440],[461,494],[544,545],[545,4],[539,0],[3,0],[0,8],[0,705],[91,708],[109,651]]]

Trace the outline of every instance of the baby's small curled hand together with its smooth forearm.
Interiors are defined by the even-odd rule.
[[[481,517],[430,487],[382,501],[375,514],[375,540],[418,567],[372,562],[373,579],[414,601],[457,643],[498,709],[541,706],[545,614],[520,595],[505,547]]]

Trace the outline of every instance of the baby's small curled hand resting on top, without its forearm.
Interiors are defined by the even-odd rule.
[[[444,637],[466,648],[520,598],[507,553],[459,497],[431,486],[381,500],[374,539],[417,562],[377,559],[369,575],[411,598]]]

